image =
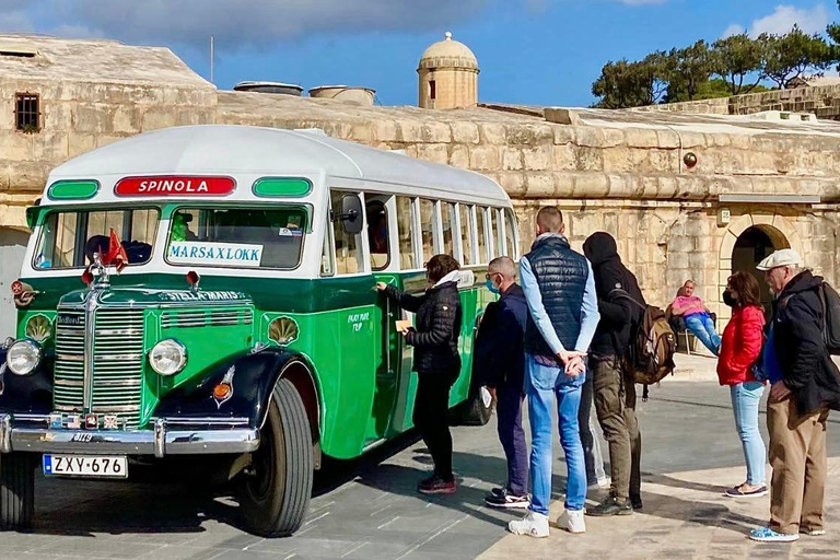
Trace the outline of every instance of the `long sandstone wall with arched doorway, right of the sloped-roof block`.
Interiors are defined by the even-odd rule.
[[[351,110],[229,93],[220,93],[219,102],[221,122],[322,128],[337,138],[486,174],[514,199],[523,248],[534,237],[538,208],[557,205],[575,247],[596,231],[611,233],[645,296],[663,307],[692,278],[698,294],[725,319],[728,310],[719,300],[732,270],[734,241],[754,221],[778,230],[808,266],[835,280],[840,259],[832,207],[727,205],[732,222],[724,226],[716,215],[718,195],[725,192],[839,201],[840,136],[816,129],[780,133],[761,121],[740,130],[712,124],[693,130],[676,122],[607,126],[595,122],[598,115],[582,112],[578,125],[558,125],[487,109]],[[619,119],[620,113],[609,115]],[[693,168],[682,163],[689,151],[699,160]]]

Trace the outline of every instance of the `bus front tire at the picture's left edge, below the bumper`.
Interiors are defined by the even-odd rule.
[[[32,525],[35,513],[35,459],[28,453],[0,455],[0,530]]]

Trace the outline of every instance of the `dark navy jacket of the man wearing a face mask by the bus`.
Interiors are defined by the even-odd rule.
[[[525,325],[528,303],[520,284],[511,285],[485,310],[472,348],[472,375],[488,387],[522,389],[525,377]]]

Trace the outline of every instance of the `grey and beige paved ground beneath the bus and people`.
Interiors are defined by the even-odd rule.
[[[485,428],[454,429],[462,477],[456,495],[429,501],[415,492],[430,459],[422,444],[405,439],[368,460],[331,465],[318,477],[306,525],[289,539],[244,533],[235,502],[196,489],[163,481],[103,486],[38,479],[35,528],[0,534],[0,558],[840,557],[840,421],[829,424],[828,536],[754,546],[745,535],[766,521],[768,499],[721,495],[745,474],[728,393],[707,381],[713,364],[709,358],[680,357],[678,376],[652,388],[650,401],[641,405],[644,513],[588,520],[583,536],[559,529],[541,540],[509,535],[506,522],[518,514],[481,505],[505,472],[493,419]],[[556,470],[560,491],[565,469],[559,459]],[[553,504],[552,517],[561,508],[562,501]]]

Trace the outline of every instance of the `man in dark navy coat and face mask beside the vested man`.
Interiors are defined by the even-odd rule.
[[[527,508],[528,450],[522,429],[522,402],[528,303],[516,283],[516,265],[510,257],[490,261],[487,288],[500,299],[487,306],[481,318],[472,353],[472,375],[495,398],[499,441],[508,458],[508,483],[493,488],[485,501],[493,508]]]

